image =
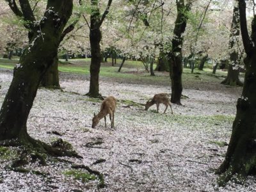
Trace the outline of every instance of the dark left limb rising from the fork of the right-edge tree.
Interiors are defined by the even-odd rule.
[[[238,0],[238,7],[239,7],[239,13],[240,13],[240,27],[241,27],[243,44],[244,44],[244,51],[246,52],[246,54],[250,55],[253,49],[253,45],[252,45],[252,41],[250,40],[250,36],[248,34],[245,1]]]

